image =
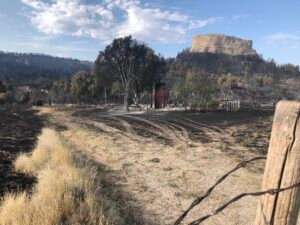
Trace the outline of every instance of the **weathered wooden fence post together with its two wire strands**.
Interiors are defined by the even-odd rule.
[[[255,157],[242,161],[225,173],[204,195],[197,197],[192,202],[174,225],[180,225],[189,212],[208,198],[229,175],[247,166],[250,162],[262,159],[266,159],[266,157]],[[300,208],[300,188],[298,187],[300,187],[300,102],[281,101],[276,106],[264,172],[263,191],[241,193],[217,207],[213,212],[188,225],[199,225],[247,196],[263,196],[261,207],[257,211],[255,225],[296,225]]]

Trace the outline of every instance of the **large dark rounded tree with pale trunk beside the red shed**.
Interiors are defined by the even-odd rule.
[[[159,79],[160,59],[152,49],[128,36],[115,39],[100,52],[95,68],[103,80],[108,78],[114,81],[117,78],[120,81],[124,91],[124,107],[128,110],[130,95],[138,99],[147,85],[152,86]]]

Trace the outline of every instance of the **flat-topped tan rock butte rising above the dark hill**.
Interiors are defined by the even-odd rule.
[[[221,34],[198,35],[193,38],[191,52],[227,55],[256,55],[251,40]]]

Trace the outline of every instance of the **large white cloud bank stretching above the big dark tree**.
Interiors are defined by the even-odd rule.
[[[151,8],[139,0],[21,0],[31,8],[31,22],[50,35],[91,37],[109,42],[132,35],[143,41],[182,42],[188,32],[212,24],[217,18],[194,20],[178,11]]]

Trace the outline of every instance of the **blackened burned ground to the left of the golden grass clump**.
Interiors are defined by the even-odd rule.
[[[13,162],[19,154],[32,151],[42,126],[43,118],[37,111],[0,108],[0,197],[28,190],[35,182],[33,177],[15,172]]]

